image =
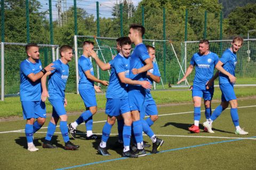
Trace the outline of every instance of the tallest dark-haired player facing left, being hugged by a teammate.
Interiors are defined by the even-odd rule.
[[[135,48],[131,55],[129,76],[132,80],[147,80],[147,71],[153,68],[153,63],[148,55],[145,44],[142,43],[142,36],[145,28],[141,25],[130,26],[129,37]],[[141,85],[128,85],[128,99],[133,120],[133,133],[137,142],[136,155],[146,156],[143,147],[142,123],[140,111],[145,100],[146,90]]]

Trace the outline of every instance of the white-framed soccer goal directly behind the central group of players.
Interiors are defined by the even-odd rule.
[[[97,51],[99,58],[101,58],[105,63],[109,62],[112,59],[113,55],[117,54],[116,51],[116,38],[113,37],[96,37],[96,36],[82,36],[82,35],[75,35],[74,36],[74,48],[75,48],[75,64],[76,64],[76,86],[77,86],[77,94],[78,92],[78,82],[79,82],[79,75],[78,75],[78,56],[80,56],[83,53],[82,46],[83,42],[85,40],[90,40],[94,42],[94,49]],[[174,47],[170,41],[164,41],[164,40],[157,40],[157,39],[143,39],[143,43],[146,45],[151,45],[156,48],[156,59],[154,62],[158,64],[157,61],[161,62],[161,66],[158,64],[159,70],[161,72],[161,75],[163,76],[162,72],[162,63],[163,63],[163,47],[160,44],[163,44],[163,42],[170,44],[170,49],[173,54],[175,54],[175,61],[179,63],[180,69],[181,65],[178,60],[178,56],[174,51]],[[97,64],[91,60],[93,63],[93,69],[94,69],[94,74],[97,74],[97,78],[99,79],[109,79],[109,72],[108,74],[106,71],[101,71]],[[164,83],[161,78],[161,85],[162,89],[164,89]],[[153,87],[154,90],[156,89],[157,84],[154,83]]]

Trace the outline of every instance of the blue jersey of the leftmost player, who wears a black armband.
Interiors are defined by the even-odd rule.
[[[20,101],[40,101],[41,100],[41,79],[32,82],[28,75],[37,74],[42,70],[42,63],[36,60],[36,63],[28,59],[20,63]]]

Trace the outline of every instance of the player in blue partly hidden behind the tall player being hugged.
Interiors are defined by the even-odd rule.
[[[153,81],[156,83],[159,83],[161,80],[160,79],[161,75],[160,75],[157,64],[154,62],[155,47],[150,45],[146,45],[146,47],[147,47],[150,59],[153,62],[153,68],[148,70],[147,72],[147,80],[148,82],[150,82],[150,84],[153,84]],[[144,117],[146,115],[149,115],[150,117],[144,120]],[[150,89],[146,89],[146,98],[143,103],[143,107],[140,111],[140,120],[142,122],[143,132],[145,132],[153,142],[153,148],[151,153],[157,153],[157,151],[160,149],[160,147],[164,143],[162,139],[159,139],[158,137],[156,137],[156,135],[150,128],[150,126],[153,125],[157,119],[158,119],[158,112],[156,108],[156,102],[150,93]]]

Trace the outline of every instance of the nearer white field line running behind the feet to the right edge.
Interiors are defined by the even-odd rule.
[[[24,131],[19,131],[19,133],[25,133]],[[36,132],[36,133],[47,133],[47,132]],[[54,134],[61,134],[61,132],[55,132]],[[86,134],[86,133],[76,133],[76,134]],[[95,135],[102,135],[102,133],[93,133]],[[111,133],[111,136],[117,136],[117,133]],[[143,134],[143,136],[147,136]],[[159,135],[156,136],[164,136],[164,137],[198,137],[198,138],[217,138],[217,139],[249,139],[249,140],[256,140],[256,138],[252,137],[224,137],[224,136],[186,136],[186,135]]]

